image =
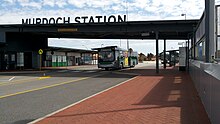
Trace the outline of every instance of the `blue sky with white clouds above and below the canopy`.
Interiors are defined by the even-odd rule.
[[[127,15],[128,21],[200,19],[205,0],[0,0],[0,24],[21,24],[26,18]],[[220,4],[220,0],[215,0]],[[139,53],[155,53],[155,40],[130,40]],[[179,45],[178,45],[179,42]],[[167,49],[178,49],[185,41],[167,41]],[[49,39],[50,46],[91,49],[117,45],[127,39]],[[163,41],[159,44],[163,50]]]

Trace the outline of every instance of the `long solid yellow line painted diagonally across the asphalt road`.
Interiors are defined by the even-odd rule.
[[[94,77],[94,76],[92,76],[92,77]],[[85,77],[85,78],[80,78],[80,79],[76,79],[76,80],[61,82],[61,83],[54,84],[54,85],[48,85],[48,86],[44,86],[44,87],[40,87],[40,88],[35,88],[35,89],[31,89],[31,90],[25,90],[25,91],[21,91],[21,92],[17,92],[17,93],[12,93],[12,94],[8,94],[8,95],[0,96],[0,99],[5,98],[5,97],[9,97],[9,96],[15,96],[15,95],[33,92],[33,91],[37,91],[37,90],[56,87],[56,86],[60,86],[60,85],[64,85],[64,84],[68,84],[68,83],[72,83],[72,82],[77,82],[77,81],[85,80],[85,79],[92,78],[92,77]]]

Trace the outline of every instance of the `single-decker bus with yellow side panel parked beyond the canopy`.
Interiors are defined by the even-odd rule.
[[[138,53],[131,48],[124,50],[118,46],[107,46],[93,50],[98,50],[98,68],[122,69],[138,64]]]

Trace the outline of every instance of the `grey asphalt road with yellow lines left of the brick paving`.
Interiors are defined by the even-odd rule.
[[[0,123],[26,124],[134,76],[97,69],[1,73]]]

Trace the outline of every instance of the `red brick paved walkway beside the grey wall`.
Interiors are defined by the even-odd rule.
[[[168,68],[132,69],[135,79],[49,116],[39,124],[209,124],[192,80]]]

